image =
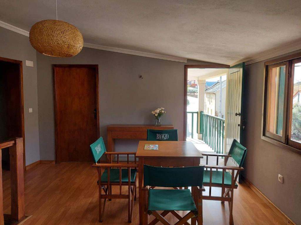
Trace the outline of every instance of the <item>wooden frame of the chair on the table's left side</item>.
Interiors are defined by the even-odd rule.
[[[133,217],[133,208],[134,208],[134,200],[136,200],[137,195],[137,176],[134,182],[131,182],[131,168],[137,168],[138,164],[136,164],[136,152],[105,152],[104,155],[107,158],[107,163],[95,163],[92,167],[96,167],[98,172],[98,201],[99,201],[99,222],[102,222],[102,215],[104,214],[104,208],[106,205],[106,200],[109,199],[128,199],[128,222],[132,222]],[[117,163],[112,163],[112,156],[117,155]],[[119,155],[127,155],[127,163],[119,163]],[[129,164],[129,155],[134,155],[135,162],[134,164]],[[110,169],[118,168],[119,169],[119,183],[110,182]],[[128,169],[128,182],[122,182],[121,177],[121,169]],[[107,169],[108,171],[108,181],[101,182],[101,170]],[[112,186],[119,185],[119,194],[112,194]],[[107,187],[105,187],[107,186]],[[128,193],[122,194],[122,186],[128,186]],[[104,190],[104,194],[101,191]],[[101,199],[104,199],[104,205],[101,207]]]

